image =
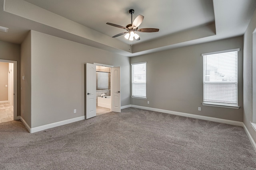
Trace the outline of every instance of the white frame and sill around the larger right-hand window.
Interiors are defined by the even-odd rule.
[[[201,56],[204,57],[206,55],[228,53],[228,52],[234,52],[234,51],[237,51],[237,59],[238,59],[238,51],[240,51],[240,48],[238,48],[238,49],[223,50],[223,51],[215,51],[215,52],[210,52],[210,53],[202,53]],[[204,64],[203,64],[203,67],[204,67]],[[237,70],[238,70],[238,63],[237,63]],[[237,73],[237,76],[238,76],[238,73]],[[238,77],[237,77],[236,81],[237,81],[237,105],[236,106],[225,104],[225,103],[205,102],[204,100],[202,102],[202,105],[203,106],[214,106],[214,107],[224,107],[224,108],[231,108],[231,109],[239,109],[240,107],[238,106]],[[204,98],[204,88],[203,88],[203,98]]]

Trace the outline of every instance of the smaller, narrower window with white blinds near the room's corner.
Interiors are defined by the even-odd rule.
[[[146,98],[146,62],[132,65],[132,97]]]

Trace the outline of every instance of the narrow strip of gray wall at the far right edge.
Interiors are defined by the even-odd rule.
[[[244,125],[256,142],[256,132],[250,127],[253,114],[256,117],[256,10],[244,34]],[[252,34],[254,32],[254,35]],[[254,44],[252,37],[254,36]],[[253,51],[254,50],[254,51]],[[253,53],[252,53],[253,52]],[[254,89],[252,89],[254,88]],[[254,98],[252,98],[254,94]],[[253,110],[254,109],[254,113]]]

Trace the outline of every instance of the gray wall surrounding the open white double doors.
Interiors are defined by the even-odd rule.
[[[85,115],[86,63],[120,66],[121,106],[130,104],[128,57],[36,31],[31,42],[31,127]]]

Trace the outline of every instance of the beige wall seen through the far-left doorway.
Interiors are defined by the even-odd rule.
[[[8,101],[8,71],[9,64],[0,62],[0,101]]]

